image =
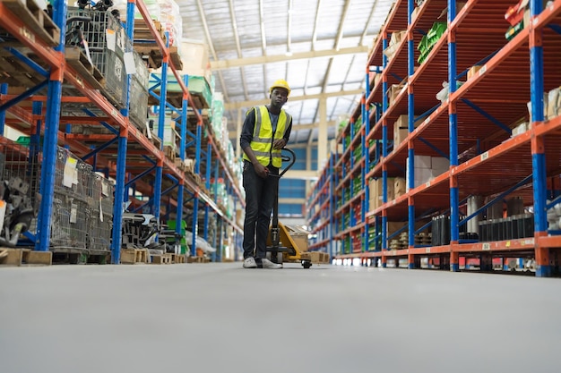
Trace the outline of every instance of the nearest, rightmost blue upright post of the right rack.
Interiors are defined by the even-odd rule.
[[[535,17],[541,11],[541,0],[531,0],[530,14]],[[531,126],[544,120],[543,103],[543,47],[542,30],[531,30],[530,32],[530,94],[531,94]],[[548,214],[546,206],[546,155],[543,137],[532,137],[531,139],[531,163],[534,194],[534,245],[536,250],[536,276],[551,276],[551,265],[549,262],[549,249],[539,246],[539,237],[548,234]]]

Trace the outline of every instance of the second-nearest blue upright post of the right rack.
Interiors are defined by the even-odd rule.
[[[456,34],[450,30],[456,17],[456,1],[448,0],[448,88],[450,95],[456,91]],[[456,103],[451,102],[448,106],[449,128],[450,128],[450,166],[458,165],[458,117],[456,114]],[[460,191],[458,190],[458,178],[450,176],[450,245],[460,241]],[[459,254],[450,250],[450,270],[460,270]]]

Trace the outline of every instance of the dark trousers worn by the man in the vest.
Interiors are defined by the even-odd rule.
[[[270,174],[279,174],[279,169],[268,165]],[[254,165],[244,161],[244,189],[246,190],[246,219],[244,220],[244,259],[265,258],[267,236],[278,177],[263,179],[255,174]]]

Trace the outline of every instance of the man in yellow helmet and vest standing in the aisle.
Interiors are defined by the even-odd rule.
[[[246,114],[239,145],[244,150],[244,268],[281,268],[265,258],[272,206],[277,192],[282,160],[280,149],[289,142],[292,117],[282,110],[289,99],[289,83],[275,81],[269,89],[271,104],[257,106]]]

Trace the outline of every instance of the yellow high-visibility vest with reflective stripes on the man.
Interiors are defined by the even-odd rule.
[[[290,114],[284,110],[280,110],[279,122],[277,123],[277,130],[272,133],[271,117],[267,106],[254,107],[255,110],[255,128],[254,137],[251,140],[250,146],[254,151],[255,157],[262,165],[269,165],[272,160],[274,167],[280,168],[282,159],[280,158],[280,149],[273,149],[272,142],[274,140],[282,139],[287,123],[290,123]],[[244,159],[249,160],[249,157],[244,153]]]

